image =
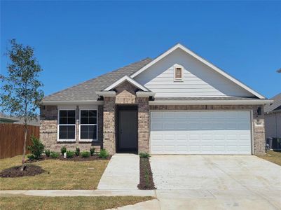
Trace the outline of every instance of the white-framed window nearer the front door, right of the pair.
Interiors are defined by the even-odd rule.
[[[97,140],[97,110],[80,111],[80,141]]]

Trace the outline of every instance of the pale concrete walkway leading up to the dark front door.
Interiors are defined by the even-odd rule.
[[[99,190],[137,190],[139,184],[139,155],[115,154],[109,161]]]

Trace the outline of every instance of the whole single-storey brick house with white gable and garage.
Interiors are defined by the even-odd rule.
[[[45,97],[40,137],[52,151],[263,154],[269,102],[177,44]]]

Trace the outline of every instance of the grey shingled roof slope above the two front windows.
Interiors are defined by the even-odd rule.
[[[120,69],[105,73],[97,78],[92,78],[65,90],[50,94],[43,98],[43,102],[96,101],[98,99],[97,91],[104,90],[109,84],[115,83],[123,76],[130,76],[149,62],[151,62],[151,59],[148,57],[128,66],[123,66]]]

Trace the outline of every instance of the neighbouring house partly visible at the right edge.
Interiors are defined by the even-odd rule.
[[[273,104],[264,106],[266,138],[281,138],[281,93],[272,100]]]

